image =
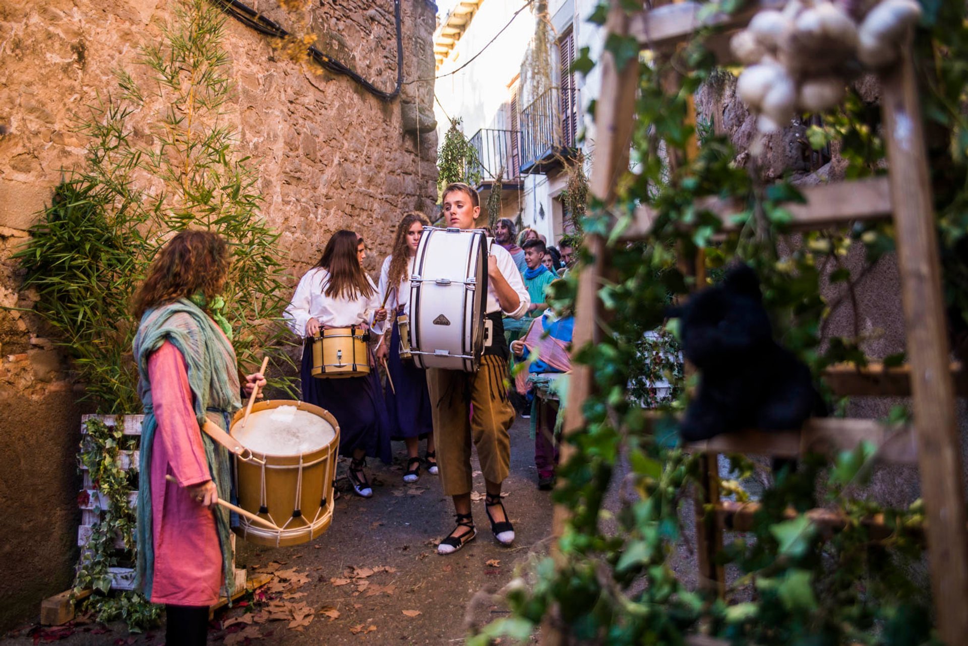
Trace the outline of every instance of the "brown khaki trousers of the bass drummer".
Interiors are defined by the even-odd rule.
[[[507,361],[495,355],[481,357],[476,372],[427,370],[427,388],[434,411],[434,444],[443,493],[469,493],[470,445],[477,448],[484,478],[503,482],[511,468],[514,407],[507,399]],[[470,411],[473,404],[473,413]]]

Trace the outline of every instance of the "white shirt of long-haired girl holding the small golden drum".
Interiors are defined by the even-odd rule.
[[[369,276],[366,279],[374,288],[370,298],[359,295],[351,300],[345,296],[333,298],[323,293],[329,282],[329,272],[321,267],[309,270],[299,279],[292,301],[283,313],[289,330],[297,337],[305,337],[306,322],[310,318],[316,318],[320,326],[333,328],[371,323],[380,300],[377,285]]]

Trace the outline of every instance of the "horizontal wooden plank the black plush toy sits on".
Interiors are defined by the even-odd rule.
[[[885,462],[915,464],[918,459],[910,426],[893,426],[877,420],[814,418],[801,430],[743,430],[687,444],[686,451],[714,454],[753,454],[798,457],[807,453],[833,455],[850,451],[862,441],[878,448]]]

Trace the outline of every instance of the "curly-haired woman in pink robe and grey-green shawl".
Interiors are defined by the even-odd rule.
[[[208,607],[229,588],[232,553],[227,450],[201,432],[223,430],[241,405],[231,327],[220,309],[226,241],[182,231],[158,254],[136,293],[134,352],[144,405],[137,499],[137,574],[166,607],[166,643],[204,644]],[[245,392],[265,385],[246,377]],[[171,476],[176,482],[167,482]]]

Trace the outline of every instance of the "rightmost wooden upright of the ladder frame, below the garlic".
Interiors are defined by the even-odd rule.
[[[947,644],[958,644],[968,634],[968,612],[964,611],[964,600],[968,599],[964,471],[953,383],[948,376],[941,263],[910,42],[901,51],[900,62],[881,77],[883,132],[918,428],[932,591],[941,639]]]

